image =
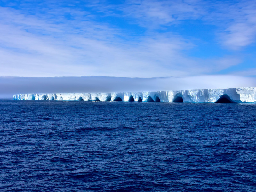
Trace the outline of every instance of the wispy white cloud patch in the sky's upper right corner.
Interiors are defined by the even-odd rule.
[[[256,1],[221,2],[206,20],[219,27],[220,44],[230,50],[252,45],[256,40]]]

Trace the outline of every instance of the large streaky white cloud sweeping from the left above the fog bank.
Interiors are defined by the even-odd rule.
[[[121,29],[80,16],[64,23],[52,15],[0,10],[1,76],[189,76],[237,64],[229,57],[188,57],[182,51],[195,45],[172,33],[125,40]]]

